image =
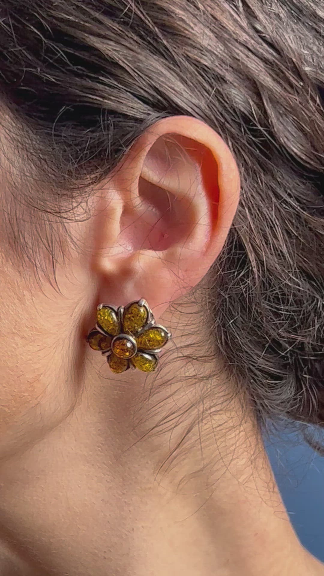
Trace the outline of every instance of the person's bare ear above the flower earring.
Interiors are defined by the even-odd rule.
[[[99,191],[98,303],[143,297],[160,316],[217,258],[239,186],[231,151],[204,122],[174,116],[146,130]]]

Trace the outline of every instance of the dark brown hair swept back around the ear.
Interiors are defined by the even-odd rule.
[[[321,2],[3,0],[0,10],[14,249],[35,260],[42,238],[54,252],[58,222],[157,119],[204,120],[242,180],[204,284],[218,353],[260,423],[323,424]],[[43,230],[35,241],[39,222],[18,227],[17,206],[47,214],[46,240]]]

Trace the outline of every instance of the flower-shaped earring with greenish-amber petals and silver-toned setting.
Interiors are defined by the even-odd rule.
[[[152,310],[141,298],[126,307],[99,304],[97,324],[87,340],[93,350],[107,356],[111,371],[120,374],[130,367],[153,372],[157,354],[169,338],[170,332],[155,323]]]

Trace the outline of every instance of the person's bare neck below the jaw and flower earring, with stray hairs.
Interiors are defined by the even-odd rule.
[[[323,576],[296,540],[238,401],[218,410],[202,447],[198,428],[189,433],[192,445],[157,479],[170,432],[136,442],[148,426],[134,427],[141,390],[89,369],[69,418],[2,463],[1,533],[13,564],[21,556],[34,576]],[[183,425],[171,427],[180,438]],[[0,574],[29,576],[4,564]]]

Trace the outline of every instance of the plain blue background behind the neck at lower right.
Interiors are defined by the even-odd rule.
[[[266,441],[279,490],[302,544],[324,562],[324,457],[301,435],[282,431]]]

